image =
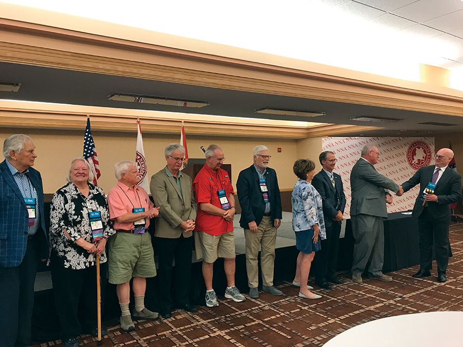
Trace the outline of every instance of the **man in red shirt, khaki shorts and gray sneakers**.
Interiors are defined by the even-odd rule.
[[[213,265],[217,258],[223,258],[227,277],[225,298],[244,301],[235,286],[235,194],[230,178],[223,164],[223,151],[211,144],[206,151],[206,164],[193,181],[193,191],[198,202],[196,217],[196,256],[203,258],[203,277],[206,284],[206,305],[218,306],[217,296],[212,289]]]

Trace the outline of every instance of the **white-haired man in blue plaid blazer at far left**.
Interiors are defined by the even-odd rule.
[[[29,136],[11,135],[0,163],[0,346],[31,341],[34,281],[39,260],[49,255],[42,177],[32,169]]]

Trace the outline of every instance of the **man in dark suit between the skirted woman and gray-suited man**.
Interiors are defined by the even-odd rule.
[[[318,160],[322,170],[312,179],[312,186],[322,196],[323,215],[325,219],[326,239],[322,240],[321,247],[315,253],[315,285],[320,288],[331,289],[328,282],[343,283],[334,276],[339,249],[339,235],[346,196],[341,176],[333,172],[336,166],[336,156],[331,151],[322,152]]]

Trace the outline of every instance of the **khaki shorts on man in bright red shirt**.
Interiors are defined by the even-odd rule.
[[[210,235],[204,231],[194,233],[196,258],[206,263],[213,263],[217,258],[235,258],[235,233],[225,232],[221,235]]]

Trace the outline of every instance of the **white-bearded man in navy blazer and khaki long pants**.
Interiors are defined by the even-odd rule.
[[[269,149],[263,145],[253,150],[254,164],[240,172],[236,182],[241,206],[240,226],[246,242],[246,272],[251,298],[258,298],[258,254],[262,270],[262,290],[282,295],[273,286],[275,242],[281,222],[280,189],[275,170],[269,168]]]

